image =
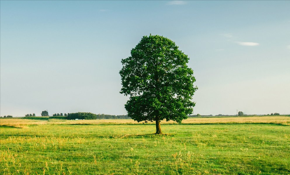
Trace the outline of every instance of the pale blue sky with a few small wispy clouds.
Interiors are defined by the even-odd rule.
[[[193,114],[290,114],[290,1],[0,1],[0,115],[126,115],[121,59],[174,41]]]

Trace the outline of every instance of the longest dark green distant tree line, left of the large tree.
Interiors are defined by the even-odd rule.
[[[107,115],[107,114],[93,114],[91,112],[76,112],[76,113],[68,113],[67,119],[129,119],[127,115]]]

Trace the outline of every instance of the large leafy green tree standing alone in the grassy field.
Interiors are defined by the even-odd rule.
[[[187,67],[188,56],[168,38],[144,36],[122,59],[120,93],[130,96],[125,104],[128,117],[137,122],[155,121],[156,134],[161,134],[160,121],[180,123],[193,112],[191,101],[197,87],[193,70]]]

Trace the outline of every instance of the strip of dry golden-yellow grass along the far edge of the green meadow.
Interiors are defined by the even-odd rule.
[[[162,124],[177,124],[174,121],[161,122]],[[254,117],[211,117],[211,118],[188,118],[182,121],[183,124],[242,124],[242,123],[275,123],[290,125],[288,116],[254,116]],[[61,124],[143,124],[132,119],[96,119],[96,120],[64,120],[64,119],[24,119],[9,118],[0,119],[0,126],[25,127],[27,125],[61,125]],[[148,122],[147,124],[154,124]]]

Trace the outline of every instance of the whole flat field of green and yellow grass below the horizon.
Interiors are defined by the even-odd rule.
[[[0,119],[1,174],[290,174],[290,117]]]

